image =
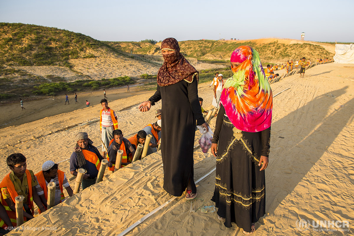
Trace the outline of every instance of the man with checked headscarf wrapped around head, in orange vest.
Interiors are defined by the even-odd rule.
[[[75,136],[75,141],[74,152],[70,156],[70,173],[77,176],[78,169],[85,169],[86,173],[83,175],[81,182],[82,189],[85,189],[96,183],[103,157],[98,149],[92,145],[93,142],[89,139],[86,132],[78,132]],[[107,166],[112,167],[112,163],[108,162]]]

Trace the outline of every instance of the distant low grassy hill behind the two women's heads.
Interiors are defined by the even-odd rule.
[[[107,42],[107,44],[119,48],[119,50],[124,52],[137,54],[153,54],[158,52],[160,48],[159,44],[151,45],[142,42]],[[241,45],[248,45],[255,48],[259,52],[262,61],[298,59],[300,57],[311,58],[314,60],[318,57],[323,58],[333,56],[332,53],[325,50],[325,48],[320,45],[309,43],[286,44],[278,42],[277,40],[268,43],[259,43],[257,40],[242,42],[188,40],[179,42],[181,52],[184,56],[194,57],[199,60],[227,60],[232,51]]]

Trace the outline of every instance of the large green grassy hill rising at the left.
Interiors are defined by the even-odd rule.
[[[80,33],[21,23],[0,23],[0,64],[67,66],[69,59],[92,58],[115,48]]]

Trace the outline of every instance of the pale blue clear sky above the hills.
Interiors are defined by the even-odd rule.
[[[267,3],[267,4],[265,4]],[[353,42],[354,0],[0,0],[0,22],[36,24],[104,41],[258,39]]]

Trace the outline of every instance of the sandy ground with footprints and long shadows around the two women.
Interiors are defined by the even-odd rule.
[[[305,78],[288,76],[271,85],[274,95],[290,89],[274,97],[270,163],[265,173],[267,213],[256,223],[254,235],[354,234],[353,75],[354,65],[330,63],[307,70]],[[207,84],[199,85],[206,109],[211,108],[212,98]],[[110,106],[120,110],[146,100],[152,93],[115,100]],[[154,111],[160,104],[146,114],[140,113],[137,105],[118,111],[124,135],[155,121]],[[0,177],[8,172],[5,159],[13,152],[27,156],[28,168],[35,173],[46,160],[63,161],[59,168],[70,177],[65,160],[73,151],[76,132],[88,132],[98,146],[99,124],[55,131],[97,119],[100,108],[95,105],[0,129]],[[212,128],[214,124],[215,119]],[[149,155],[23,225],[39,229],[28,228],[11,235],[118,235],[171,198],[162,189],[161,163],[160,152]],[[195,180],[214,167],[215,158],[210,153],[205,156],[200,149],[195,151]],[[73,183],[70,181],[71,186]],[[210,198],[214,188],[212,172],[198,183],[195,200],[176,198],[127,235],[243,235],[235,224],[225,228],[216,213],[200,211],[202,206],[213,205]],[[195,212],[190,212],[191,206]],[[348,220],[345,229],[349,231],[315,231],[313,226],[299,230],[296,225],[301,219]]]

